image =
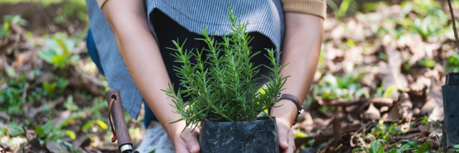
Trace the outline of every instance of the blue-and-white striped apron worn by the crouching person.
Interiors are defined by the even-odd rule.
[[[184,26],[187,30],[200,33],[199,28],[209,29],[209,34],[225,35],[229,21],[228,4],[235,15],[244,12],[239,19],[248,22],[247,32],[258,32],[268,36],[273,44],[280,48],[285,33],[284,13],[280,0],[144,0],[148,19],[154,8],[158,8]],[[129,72],[117,49],[115,38],[105,16],[95,0],[86,0],[90,28],[110,89],[120,89],[122,105],[127,112],[137,119],[142,107],[142,95],[132,81]],[[153,16],[154,17],[154,16]],[[155,38],[152,23],[148,22]]]

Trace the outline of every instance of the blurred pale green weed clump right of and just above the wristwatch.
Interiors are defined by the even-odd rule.
[[[346,98],[356,99],[361,96],[369,98],[367,91],[362,90],[362,84],[359,84],[361,73],[354,75],[355,72],[345,74],[344,77],[335,77],[327,74],[320,79],[315,92],[322,98]]]

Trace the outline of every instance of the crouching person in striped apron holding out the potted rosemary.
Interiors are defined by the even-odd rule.
[[[144,124],[147,135],[139,152],[199,152],[199,132],[184,128],[184,123],[170,122],[181,116],[160,89],[172,83],[179,89],[173,66],[171,40],[179,39],[184,48],[201,49],[199,28],[209,34],[224,35],[228,31],[228,5],[239,19],[248,22],[247,32],[253,36],[253,51],[279,48],[281,63],[290,63],[281,74],[292,76],[285,83],[285,94],[304,101],[312,84],[320,55],[325,0],[86,0],[90,16],[88,50],[110,88],[120,89],[123,106],[137,118],[142,101],[146,103]],[[218,36],[216,40],[221,42]],[[269,64],[264,55],[254,57],[255,64]],[[260,74],[267,72],[260,70]],[[276,103],[270,115],[276,117],[280,148],[295,152],[291,130],[299,108],[284,99]],[[151,108],[151,110],[150,110]],[[154,114],[153,114],[154,113]],[[159,123],[158,123],[159,122]],[[167,137],[167,134],[170,138]]]

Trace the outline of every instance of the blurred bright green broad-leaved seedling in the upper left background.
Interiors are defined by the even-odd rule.
[[[72,55],[75,41],[55,36],[53,39],[45,40],[45,49],[38,52],[38,57],[53,64],[60,69],[66,69],[70,64],[80,60],[80,55]]]

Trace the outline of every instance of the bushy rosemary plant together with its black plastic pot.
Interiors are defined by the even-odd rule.
[[[176,67],[176,74],[181,77],[181,86],[175,94],[169,84],[166,94],[173,98],[177,109],[174,113],[181,114],[179,120],[186,120],[186,126],[196,129],[201,127],[199,145],[201,152],[279,152],[278,130],[275,118],[258,117],[273,103],[278,103],[275,96],[282,91],[287,77],[279,74],[284,66],[278,64],[275,50],[268,51],[268,59],[272,67],[255,66],[250,63],[253,55],[248,45],[251,38],[246,34],[247,23],[241,23],[233,16],[228,7],[231,31],[223,36],[223,42],[215,42],[205,28],[201,30],[203,40],[209,49],[193,54],[175,41],[176,62],[183,64]],[[204,52],[208,52],[206,58]],[[223,55],[223,56],[221,56]],[[196,63],[189,62],[196,58]],[[264,93],[257,92],[263,84],[257,84],[254,78],[259,67],[268,67],[273,72],[264,86]],[[183,101],[182,95],[191,96]],[[265,113],[266,114],[266,113]]]

